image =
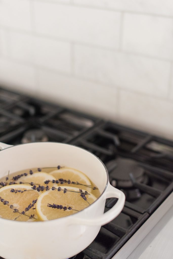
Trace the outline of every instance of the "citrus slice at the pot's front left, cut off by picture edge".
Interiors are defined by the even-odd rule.
[[[39,192],[37,191],[24,191],[23,193],[21,192],[10,192],[11,189],[17,189],[17,190],[32,190],[32,187],[29,185],[25,184],[13,184],[13,185],[6,185],[0,189],[0,217],[4,219],[11,219],[14,220],[18,216],[17,221],[35,221],[38,219],[37,212],[36,210],[32,209],[35,207],[34,206],[27,212],[25,212],[26,215],[33,215],[34,218],[29,218],[26,215],[21,215],[20,213],[14,213],[14,209],[17,209],[19,212],[25,211],[25,208],[28,207],[28,205],[31,203],[33,200],[36,200],[39,196]],[[9,204],[4,205],[4,202],[8,201]],[[10,205],[13,205],[13,209],[10,208]]]

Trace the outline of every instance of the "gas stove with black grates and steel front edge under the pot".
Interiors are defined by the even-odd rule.
[[[118,217],[75,259],[127,258],[173,204],[172,141],[1,88],[0,142],[40,141],[89,150],[126,196]],[[116,202],[107,199],[105,212]]]

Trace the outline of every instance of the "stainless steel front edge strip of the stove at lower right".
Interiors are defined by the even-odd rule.
[[[157,210],[147,219],[147,221],[136,231],[136,233],[126,242],[126,244],[112,257],[112,259],[127,259],[133,250],[140,244],[145,236],[163,217],[163,215],[173,205],[173,192],[164,200]]]

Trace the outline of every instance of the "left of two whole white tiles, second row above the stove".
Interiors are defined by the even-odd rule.
[[[70,44],[68,42],[35,37],[12,32],[10,34],[11,55],[13,58],[70,72]]]

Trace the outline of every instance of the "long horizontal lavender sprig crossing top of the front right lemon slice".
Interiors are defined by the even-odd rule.
[[[52,190],[52,191],[55,191],[55,190],[57,190],[58,192],[59,191],[63,191],[63,193],[67,193],[67,192],[77,192],[77,193],[83,193],[83,194],[85,194],[85,195],[90,195],[90,193],[89,192],[87,192],[87,191],[85,191],[85,192],[83,192],[82,191],[82,189],[79,189],[79,190],[81,190],[81,191],[71,191],[71,190],[68,190],[68,189],[66,189],[66,188],[64,188],[64,189],[62,189],[60,186],[58,186],[58,188],[56,188],[56,187],[49,187],[48,185],[46,185],[46,187],[45,186],[41,186],[41,185],[39,185],[38,187],[36,186],[36,185],[34,185],[33,187],[32,187],[32,190],[18,190],[18,189],[11,189],[10,190],[10,192],[14,192],[14,193],[17,193],[17,192],[20,192],[20,193],[23,193],[23,192],[29,192],[29,191],[38,191],[38,192],[42,192],[42,191],[49,191],[49,190]]]

